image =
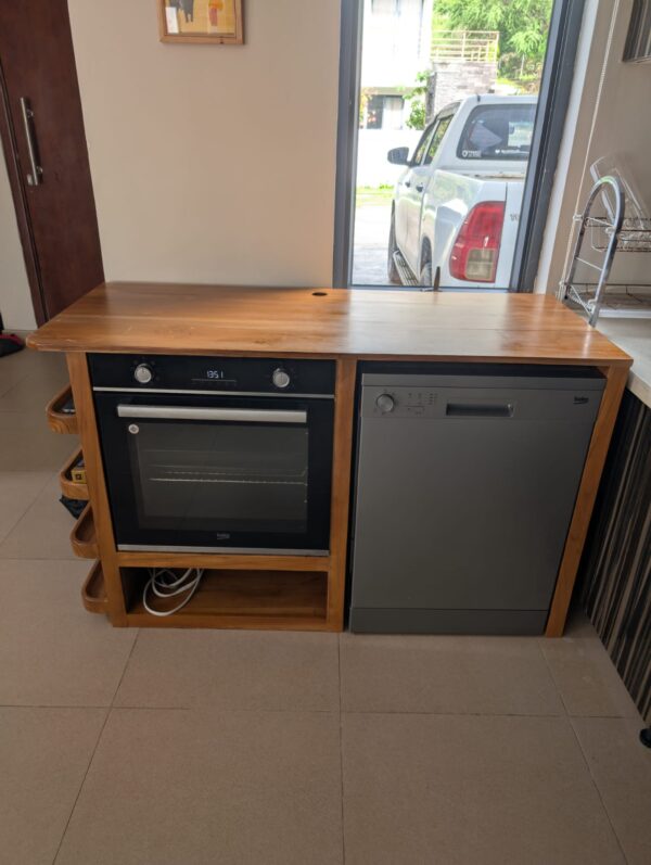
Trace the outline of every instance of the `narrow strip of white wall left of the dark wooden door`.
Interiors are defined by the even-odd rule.
[[[34,330],[36,319],[11,198],[4,156],[0,150],[0,313],[5,330]]]

